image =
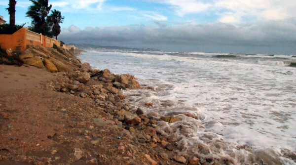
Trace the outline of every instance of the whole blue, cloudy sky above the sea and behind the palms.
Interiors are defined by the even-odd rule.
[[[0,15],[9,22],[9,0]],[[65,43],[168,51],[296,54],[296,0],[49,0]],[[29,0],[16,24],[30,25]]]

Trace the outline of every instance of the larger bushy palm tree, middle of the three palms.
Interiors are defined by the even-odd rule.
[[[50,35],[50,28],[46,23],[46,16],[48,15],[52,5],[48,6],[48,0],[30,0],[33,5],[29,6],[26,12],[26,17],[32,18],[33,30],[42,35]]]

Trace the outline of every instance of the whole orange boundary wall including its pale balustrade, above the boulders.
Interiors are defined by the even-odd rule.
[[[0,35],[0,47],[13,51],[24,51],[27,45],[52,47],[53,43],[60,46],[61,42],[22,28],[12,35]]]

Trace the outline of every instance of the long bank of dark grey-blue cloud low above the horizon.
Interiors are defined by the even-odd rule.
[[[152,47],[172,51],[295,54],[296,19],[257,24],[227,23],[169,26],[131,25],[124,27],[63,29],[65,42],[129,47]]]

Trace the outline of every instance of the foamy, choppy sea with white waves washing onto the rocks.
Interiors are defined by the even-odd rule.
[[[89,49],[78,58],[135,76],[141,89],[122,91],[133,110],[181,118],[154,125],[176,139],[179,154],[296,165],[296,55]]]

